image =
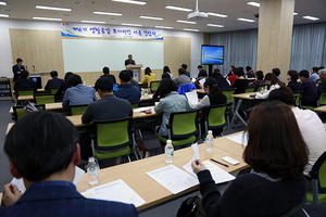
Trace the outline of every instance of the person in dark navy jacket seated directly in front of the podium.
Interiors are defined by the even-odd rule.
[[[121,86],[114,92],[115,97],[125,99],[130,103],[140,101],[140,90],[130,84],[130,74],[128,71],[122,71],[118,75]]]

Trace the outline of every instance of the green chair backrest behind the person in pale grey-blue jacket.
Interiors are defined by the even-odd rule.
[[[171,113],[168,127],[172,139],[187,138],[199,133],[199,110]]]

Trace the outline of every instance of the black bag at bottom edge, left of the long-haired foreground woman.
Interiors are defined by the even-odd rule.
[[[205,217],[201,199],[197,195],[184,201],[178,209],[177,217]]]

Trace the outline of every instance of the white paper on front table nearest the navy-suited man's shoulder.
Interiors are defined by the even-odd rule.
[[[128,184],[122,179],[98,186],[82,193],[88,199],[98,199],[104,201],[116,201],[127,204],[134,204],[136,207],[145,204],[141,199]]]

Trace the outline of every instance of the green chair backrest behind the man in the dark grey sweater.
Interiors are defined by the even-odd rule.
[[[97,138],[95,150],[110,151],[133,144],[131,123],[133,117],[110,122],[93,122],[93,135]]]

